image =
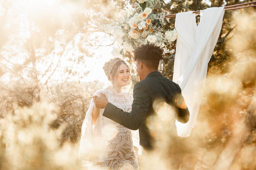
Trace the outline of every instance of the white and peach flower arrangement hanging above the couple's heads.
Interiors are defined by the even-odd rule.
[[[163,49],[164,54],[174,53],[172,42],[177,39],[176,29],[165,30],[165,12],[157,14],[153,10],[160,7],[160,0],[138,0],[134,6],[122,8],[123,17],[108,24],[108,31],[113,35],[115,44],[124,52],[131,52],[142,44],[154,44]],[[106,30],[106,27],[105,27]]]

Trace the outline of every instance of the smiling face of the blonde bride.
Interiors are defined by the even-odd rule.
[[[127,86],[130,78],[130,70],[125,64],[121,64],[117,71],[117,86]]]

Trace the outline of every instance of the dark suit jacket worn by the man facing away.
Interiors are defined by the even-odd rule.
[[[149,129],[145,124],[148,116],[156,114],[153,109],[153,103],[156,99],[162,99],[167,104],[175,107],[175,118],[182,123],[189,120],[189,111],[182,109],[175,104],[174,98],[181,95],[181,88],[178,84],[164,77],[159,71],[153,71],[147,75],[144,80],[139,81],[133,88],[133,104],[131,112],[124,112],[115,105],[108,103],[103,116],[125,126],[131,130],[139,129],[140,145],[151,148],[153,138],[151,138]],[[183,100],[180,96],[179,100]],[[184,102],[185,104],[185,102]],[[184,106],[184,105],[183,105]]]

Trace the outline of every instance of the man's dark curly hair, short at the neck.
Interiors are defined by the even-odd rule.
[[[133,61],[141,61],[148,69],[157,70],[159,61],[163,59],[163,50],[153,44],[144,44],[134,50]]]

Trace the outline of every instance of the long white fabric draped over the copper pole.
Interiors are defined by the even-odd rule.
[[[207,66],[221,31],[224,7],[200,10],[197,25],[193,11],[176,14],[178,32],[173,82],[179,84],[190,112],[186,124],[176,120],[180,137],[190,136],[197,119],[207,74]]]

